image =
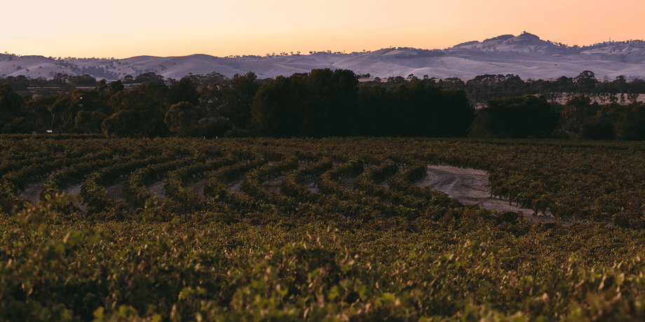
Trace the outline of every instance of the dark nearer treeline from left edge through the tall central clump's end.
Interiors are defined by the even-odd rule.
[[[209,77],[216,78],[211,74]],[[269,83],[250,72],[224,83],[186,76],[166,85],[154,73],[125,90],[120,80],[22,97],[0,84],[2,133],[59,130],[107,137],[463,137],[474,118],[463,90],[419,81],[358,86],[348,70],[317,69]],[[134,80],[137,80],[135,78]],[[220,80],[224,80],[221,79]],[[264,84],[263,84],[264,83]]]

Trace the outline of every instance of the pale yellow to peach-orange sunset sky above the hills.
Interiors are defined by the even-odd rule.
[[[2,10],[0,52],[45,57],[444,49],[523,31],[567,45],[645,39],[642,0],[31,0]]]

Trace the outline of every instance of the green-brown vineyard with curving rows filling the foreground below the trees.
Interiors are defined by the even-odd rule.
[[[2,321],[645,318],[645,143],[58,134],[0,151]],[[420,186],[430,165],[485,170],[491,198],[557,222]]]

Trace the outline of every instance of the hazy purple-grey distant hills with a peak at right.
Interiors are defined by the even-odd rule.
[[[593,71],[598,79],[645,78],[645,41],[606,41],[594,45],[564,45],[544,41],[524,32],[468,41],[444,50],[383,48],[371,52],[314,52],[309,55],[214,57],[137,56],[125,59],[53,59],[43,56],[0,54],[0,76],[24,75],[53,78],[90,74],[97,79],[123,79],[127,75],[154,72],[179,79],[214,71],[232,77],[253,71],[259,78],[290,76],[311,69],[351,69],[355,73],[388,78],[414,74],[421,78],[474,78],[484,74],[513,74],[520,78],[559,78]]]

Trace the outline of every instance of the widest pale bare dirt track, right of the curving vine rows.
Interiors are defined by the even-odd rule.
[[[520,208],[509,204],[508,200],[491,198],[488,173],[484,170],[465,169],[446,165],[429,165],[428,176],[414,183],[446,193],[463,204],[480,204],[482,208],[497,211],[522,211],[529,221],[555,222],[555,218],[534,216],[532,209]]]

